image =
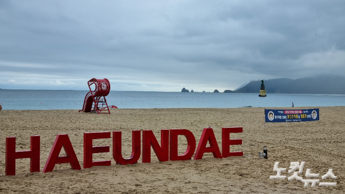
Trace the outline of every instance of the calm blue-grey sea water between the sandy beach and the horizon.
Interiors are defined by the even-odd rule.
[[[88,91],[0,89],[3,110],[82,109]],[[187,93],[110,91],[109,106],[118,108],[234,108],[345,106],[345,95],[255,93]]]

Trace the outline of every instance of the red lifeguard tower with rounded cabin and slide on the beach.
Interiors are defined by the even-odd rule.
[[[110,91],[109,80],[105,78],[104,79],[92,78],[87,82],[87,85],[90,91],[87,92],[85,96],[85,100],[84,100],[83,109],[79,110],[79,112],[80,111],[83,111],[83,112],[96,111],[97,114],[100,114],[100,113],[110,114],[110,110],[105,99],[105,96],[107,96]],[[91,89],[92,85],[95,85],[94,90]]]

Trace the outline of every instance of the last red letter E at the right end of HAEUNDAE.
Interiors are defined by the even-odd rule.
[[[242,145],[241,139],[230,140],[230,133],[242,133],[242,127],[222,128],[222,154],[223,158],[229,156],[243,156],[243,152],[230,152],[230,145]]]

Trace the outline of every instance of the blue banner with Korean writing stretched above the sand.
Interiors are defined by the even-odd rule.
[[[319,121],[319,109],[265,109],[265,123]]]

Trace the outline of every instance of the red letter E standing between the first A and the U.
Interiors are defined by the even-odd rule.
[[[92,166],[110,166],[111,161],[92,161],[92,154],[109,152],[109,145],[92,146],[92,140],[110,138],[110,131],[108,132],[94,132],[84,133],[84,168],[91,168]]]

